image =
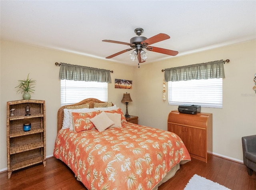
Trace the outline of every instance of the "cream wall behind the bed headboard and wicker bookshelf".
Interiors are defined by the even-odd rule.
[[[123,93],[128,92],[133,100],[129,103],[129,113],[135,113],[136,83],[132,89],[115,89],[114,80],[134,81],[136,67],[2,40],[0,53],[0,171],[7,169],[6,102],[22,99],[22,95],[16,93],[15,87],[18,80],[26,79],[28,73],[36,80],[35,93],[31,94],[31,99],[46,101],[46,156],[53,154],[57,134],[57,111],[60,108],[60,69],[55,62],[113,70],[112,83],[108,84],[108,101],[115,103],[125,113],[126,106],[121,100]]]

